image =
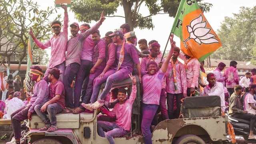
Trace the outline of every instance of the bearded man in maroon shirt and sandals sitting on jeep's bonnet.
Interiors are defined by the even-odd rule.
[[[47,130],[48,132],[54,132],[58,130],[56,114],[60,113],[65,108],[65,90],[64,85],[58,79],[60,77],[60,70],[52,68],[48,73],[48,80],[51,82],[50,96],[48,102],[41,103],[35,106],[36,114],[46,124],[39,130]],[[46,112],[49,114],[49,118],[46,116]]]

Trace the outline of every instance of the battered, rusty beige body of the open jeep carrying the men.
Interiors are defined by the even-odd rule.
[[[136,76],[136,75],[135,75]],[[115,143],[144,144],[140,129],[140,82],[136,76],[137,94],[132,108],[132,124],[130,133],[115,137]],[[102,84],[102,92],[105,83]],[[130,78],[116,82],[113,87],[132,88]],[[208,98],[205,96],[206,99]],[[220,104],[219,104],[220,107]],[[191,110],[192,111],[192,110]],[[58,130],[54,132],[39,131],[45,124],[36,114],[30,120],[30,131],[24,136],[30,144],[107,144],[108,140],[102,138],[97,132],[97,114],[82,112],[80,114],[56,114]],[[203,116],[172,120],[163,120],[158,123],[152,132],[153,144],[226,144],[227,124],[226,116]]]

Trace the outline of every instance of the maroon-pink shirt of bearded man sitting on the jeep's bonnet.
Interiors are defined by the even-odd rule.
[[[50,89],[50,95],[49,95],[48,101],[54,98],[56,94],[59,94],[60,99],[58,99],[56,103],[59,104],[62,107],[62,109],[64,109],[65,108],[65,89],[62,82],[58,80],[55,84],[51,83],[49,86],[49,89]]]

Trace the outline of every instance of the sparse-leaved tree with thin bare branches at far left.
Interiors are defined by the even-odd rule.
[[[34,36],[40,40],[52,36],[48,18],[56,8],[38,8],[39,5],[32,0],[0,0],[0,56],[7,57],[8,66],[10,57],[16,54],[19,56],[20,69],[22,60],[27,56],[29,28],[34,30]]]

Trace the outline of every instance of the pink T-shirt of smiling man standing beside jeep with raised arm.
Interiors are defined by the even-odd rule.
[[[143,96],[142,102],[144,104],[156,104],[159,105],[160,94],[162,88],[160,85],[164,80],[165,73],[162,70],[154,75],[146,74],[142,77]]]

